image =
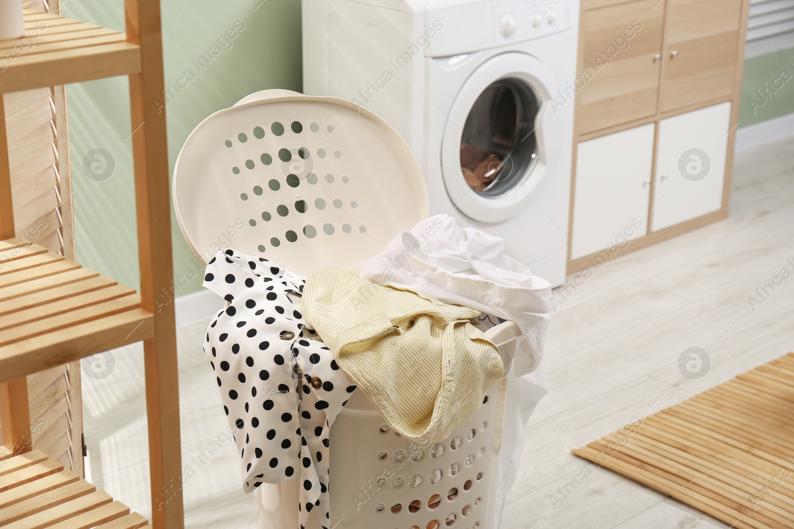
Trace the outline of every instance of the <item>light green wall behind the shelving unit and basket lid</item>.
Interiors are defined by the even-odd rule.
[[[173,170],[187,135],[211,113],[256,90],[301,90],[300,0],[162,0],[161,6],[165,83],[175,86],[166,107],[168,163]],[[63,9],[67,17],[124,31],[121,0],[69,0]],[[225,35],[229,29],[237,29],[235,38]],[[217,55],[199,71],[192,62],[205,52]],[[186,75],[188,70],[193,75]],[[127,78],[72,84],[67,98],[78,259],[137,288]],[[89,178],[91,171],[83,170],[83,159],[94,149],[113,157],[110,178]],[[180,278],[188,268],[195,270],[195,264],[173,218],[172,232],[174,273]],[[195,279],[177,288],[177,295],[201,288],[202,274],[195,270],[188,275]]]

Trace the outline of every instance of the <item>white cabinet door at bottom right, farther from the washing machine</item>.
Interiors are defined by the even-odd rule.
[[[729,124],[730,102],[659,122],[654,232],[722,207]]]

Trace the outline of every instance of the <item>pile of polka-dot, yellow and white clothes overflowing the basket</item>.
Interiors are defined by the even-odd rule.
[[[505,418],[503,501],[523,427],[546,392],[538,368],[553,310],[549,283],[503,250],[503,240],[437,215],[400,233],[360,270],[330,267],[303,278],[268,259],[218,251],[204,286],[226,303],[204,351],[245,492],[299,479],[300,527],[312,511],[332,527],[329,433],[353,391],[403,437],[433,443],[468,420],[511,369],[508,399],[518,405]],[[511,366],[480,320],[518,324]]]

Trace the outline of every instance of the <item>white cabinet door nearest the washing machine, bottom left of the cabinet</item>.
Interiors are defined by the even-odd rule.
[[[579,144],[571,259],[648,232],[653,124]]]

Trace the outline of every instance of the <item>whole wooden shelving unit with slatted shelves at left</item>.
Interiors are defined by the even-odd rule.
[[[13,223],[5,122],[0,120],[0,526],[133,529],[129,508],[30,449],[25,377],[144,343],[152,527],[183,527],[163,52],[159,0],[125,0],[126,33],[25,10],[25,38],[0,40],[2,94],[129,75],[141,291],[47,251]]]

